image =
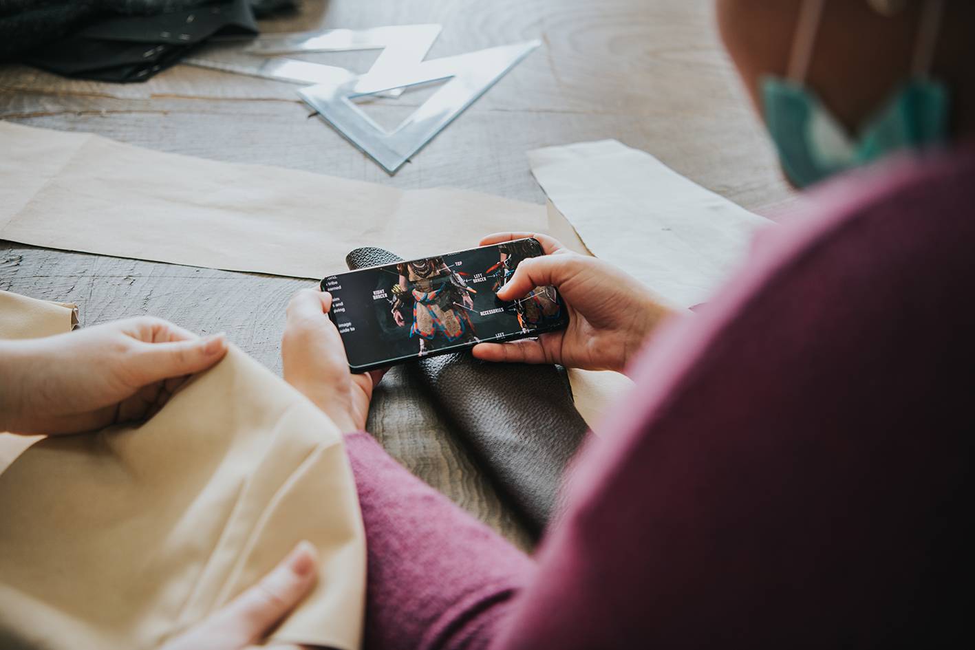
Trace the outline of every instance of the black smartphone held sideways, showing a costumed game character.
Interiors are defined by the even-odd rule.
[[[495,295],[522,260],[542,254],[529,238],[325,278],[349,367],[366,372],[564,328],[568,315],[555,287],[513,302]]]

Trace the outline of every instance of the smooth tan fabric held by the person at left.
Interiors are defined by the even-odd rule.
[[[4,326],[25,299],[0,300]],[[69,326],[32,307],[39,330]],[[271,640],[354,650],[366,548],[341,435],[231,347],[145,424],[41,440],[0,474],[0,641],[155,648],[301,539],[318,585]]]

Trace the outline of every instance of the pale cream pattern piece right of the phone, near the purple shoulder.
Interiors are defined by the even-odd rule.
[[[528,160],[594,255],[678,308],[707,301],[772,223],[616,140],[536,149]]]

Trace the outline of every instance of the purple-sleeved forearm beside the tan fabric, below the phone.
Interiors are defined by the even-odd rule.
[[[389,457],[345,438],[369,552],[365,650],[483,648],[534,563]]]

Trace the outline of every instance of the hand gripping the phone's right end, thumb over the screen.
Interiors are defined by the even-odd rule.
[[[600,259],[565,249],[547,235],[496,233],[481,240],[481,246],[526,237],[538,240],[546,254],[523,260],[497,297],[516,300],[534,287],[556,287],[568,309],[568,326],[537,339],[479,343],[474,356],[489,362],[622,371],[672,310],[635,278]]]

